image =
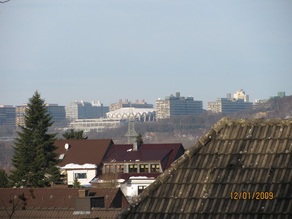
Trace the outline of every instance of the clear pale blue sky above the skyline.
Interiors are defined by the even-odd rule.
[[[292,1],[11,0],[0,105],[292,95]]]

